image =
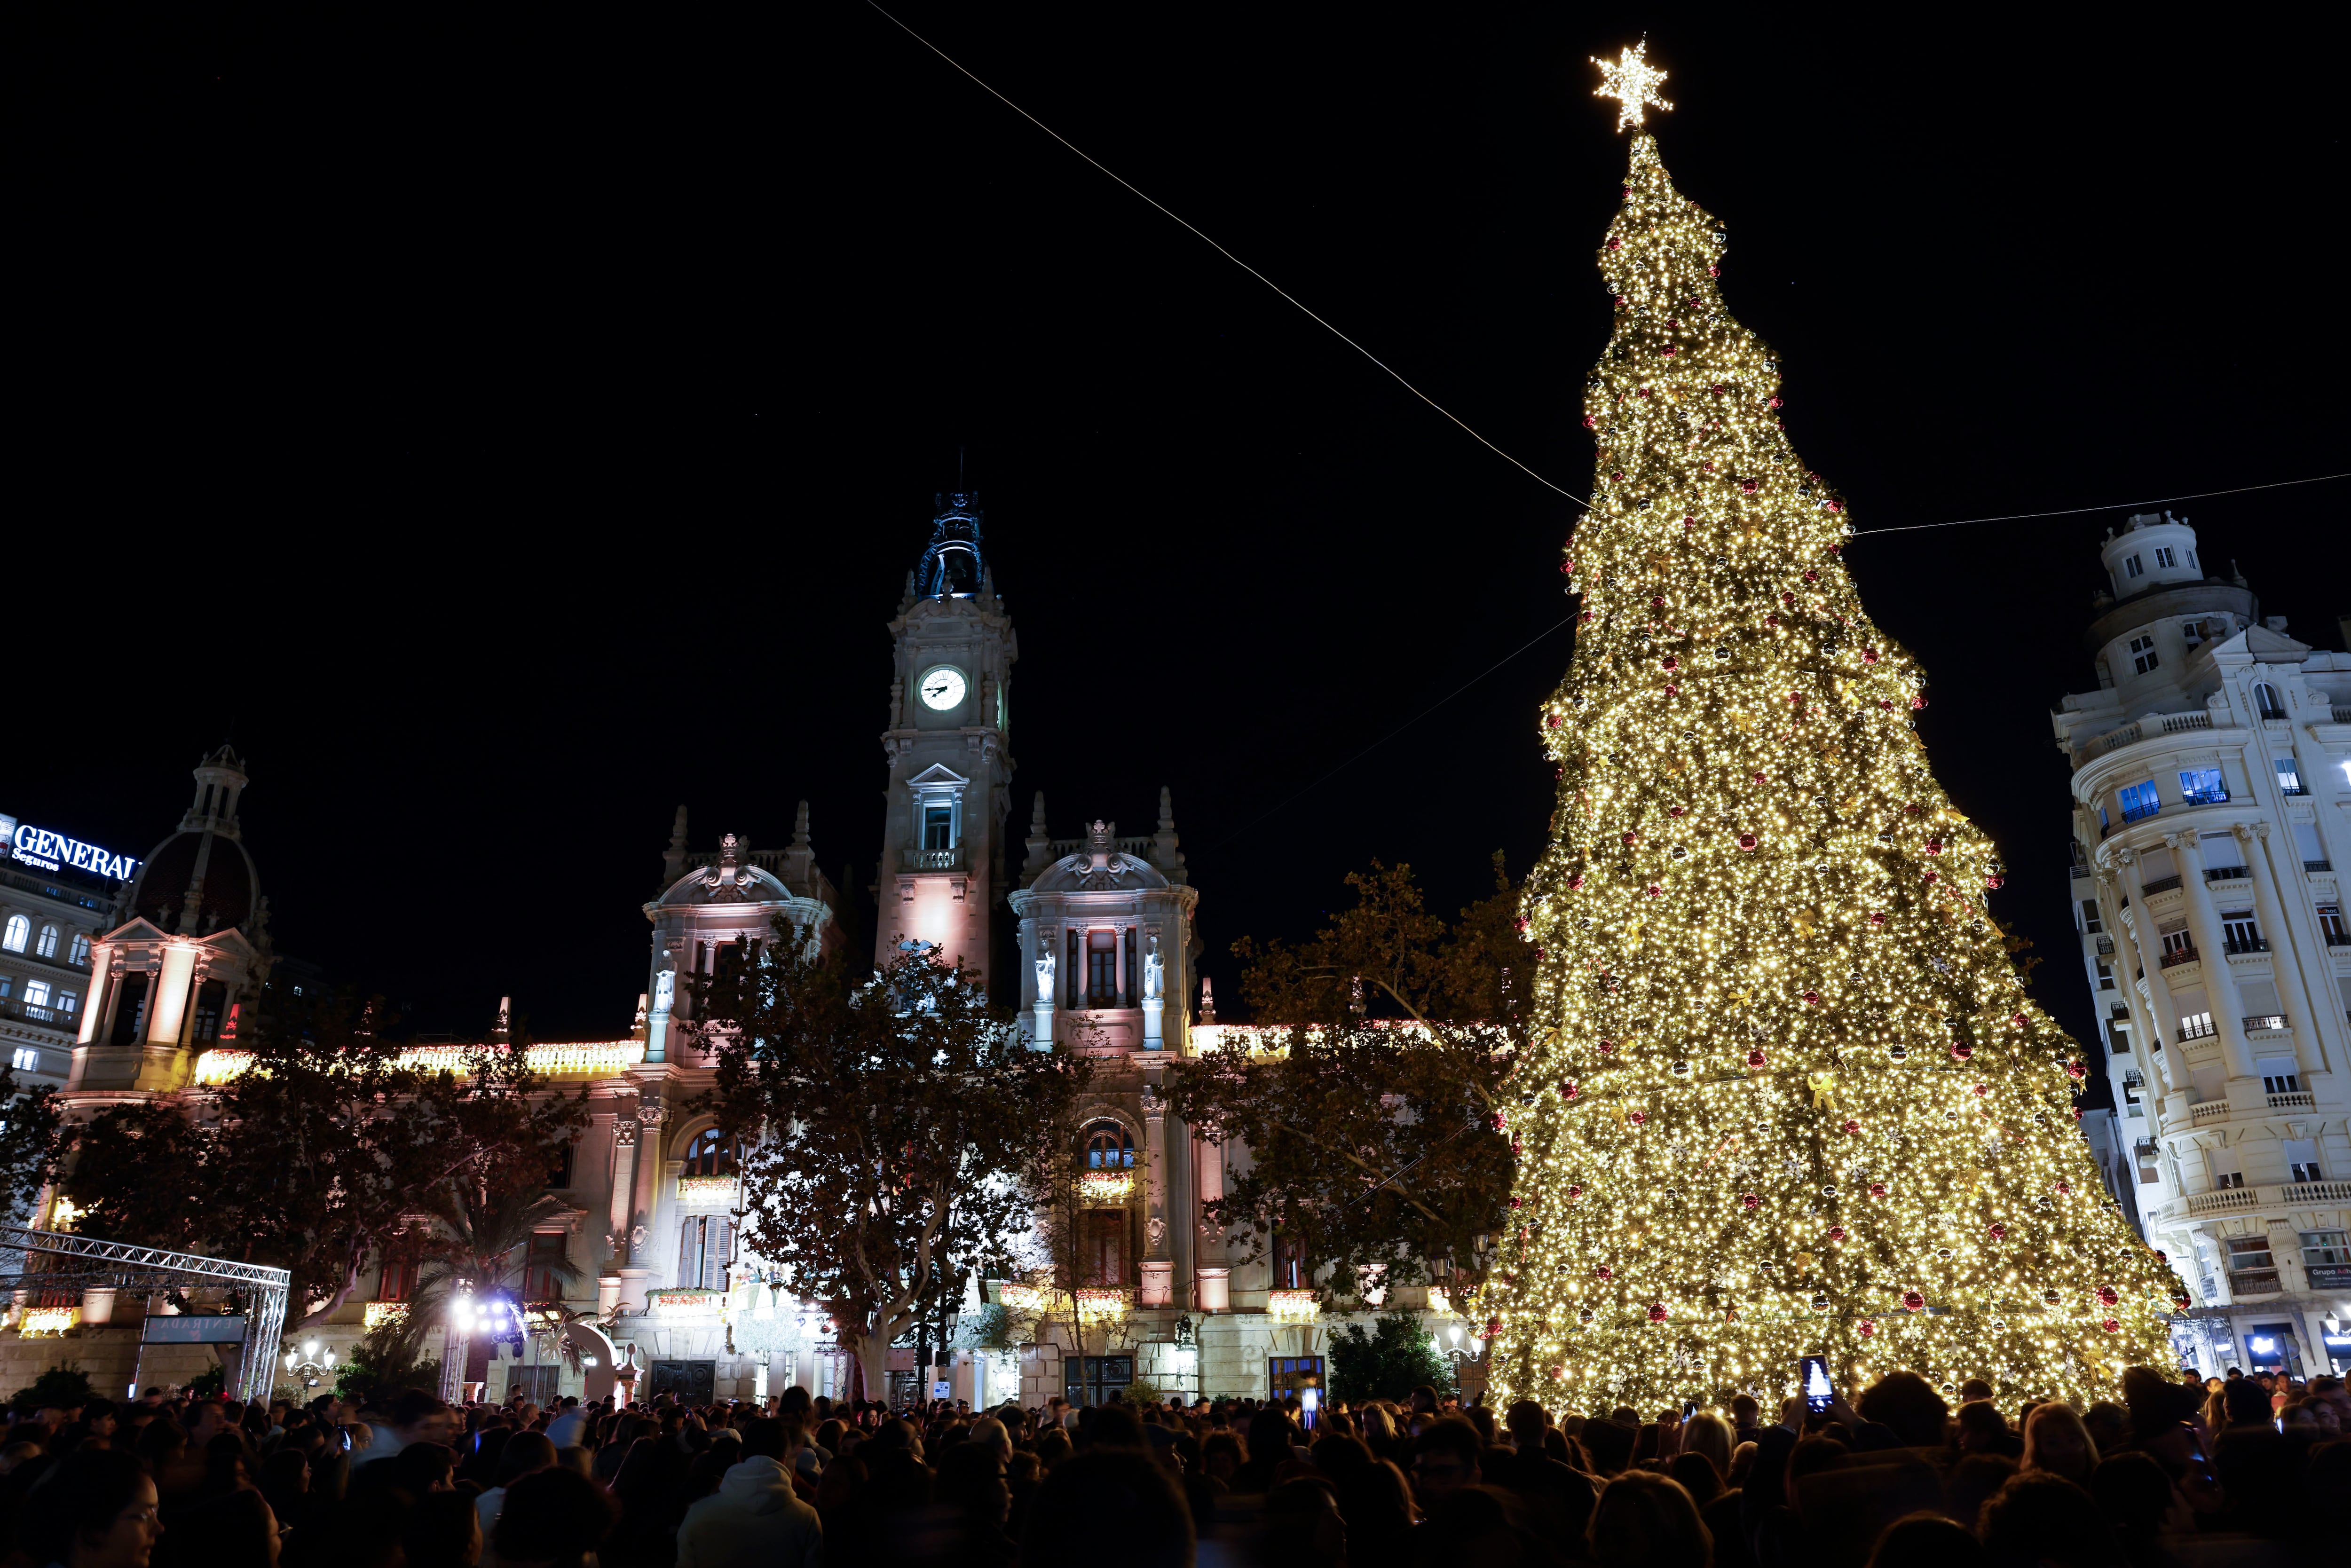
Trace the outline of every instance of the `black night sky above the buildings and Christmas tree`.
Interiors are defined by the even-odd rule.
[[[1857,527],[2351,468],[2339,40],[1469,9],[900,16],[1578,494],[1625,160],[1587,56],[1643,31]],[[1568,501],[865,5],[423,26],[31,14],[0,809],[143,856],[233,738],[284,952],[421,1030],[510,992],[611,1037],[679,802],[781,846],[809,799],[872,879],[884,628],[962,463],[1011,832],[1171,785],[1227,994],[1375,856],[1441,910],[1528,867]],[[2346,505],[2175,510],[2337,649]],[[2123,510],[1848,548],[2076,1030],[2048,710]]]

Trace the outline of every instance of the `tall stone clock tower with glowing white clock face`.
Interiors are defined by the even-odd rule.
[[[938,498],[931,545],[889,623],[889,790],[875,877],[875,964],[903,943],[936,943],[990,983],[987,917],[1004,889],[1013,755],[1006,703],[1020,658],[1011,616],[980,552],[978,496]]]

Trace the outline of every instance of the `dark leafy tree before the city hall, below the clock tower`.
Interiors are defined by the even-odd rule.
[[[1011,1269],[1018,1175],[1084,1063],[1030,1051],[936,947],[856,976],[785,922],[705,1004],[710,1105],[745,1145],[743,1241],[823,1302],[879,1394],[891,1342],[959,1267]]]

